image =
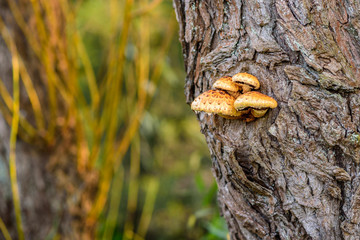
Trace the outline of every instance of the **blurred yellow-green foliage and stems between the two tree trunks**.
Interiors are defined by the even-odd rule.
[[[89,210],[96,237],[226,239],[208,149],[195,114],[185,103],[185,72],[172,2],[46,1],[31,1],[36,19],[32,31],[38,36],[34,43],[28,39],[48,79],[48,109],[33,106],[34,113],[46,114],[38,114],[38,119],[44,118],[38,122],[46,126],[38,124],[35,133],[27,132],[26,124],[21,129],[20,119],[19,135],[23,131],[28,135],[25,140],[43,138],[45,144],[53,144],[54,129],[59,126],[52,127],[52,122],[56,125],[54,119],[61,111],[53,109],[58,104],[50,95],[59,92],[59,101],[75,116],[80,133],[79,171],[99,173],[98,193]],[[15,2],[8,2],[14,13],[19,10]],[[51,17],[52,6],[60,7],[58,16],[66,19],[66,36],[51,31],[60,24]],[[2,22],[0,26],[12,55],[17,56],[14,40]],[[26,31],[31,26],[20,28],[29,37]],[[52,38],[55,42],[65,38],[66,43],[54,47],[47,43]],[[49,51],[56,61],[49,61]],[[61,61],[63,72],[56,65]],[[19,75],[26,78],[25,71]],[[9,98],[1,89],[2,98]],[[26,89],[29,98],[37,99],[37,89],[35,93],[31,89]],[[11,116],[16,113],[13,102],[15,95],[7,106]]]

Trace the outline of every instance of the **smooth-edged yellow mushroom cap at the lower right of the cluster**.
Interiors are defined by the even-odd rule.
[[[247,108],[267,109],[276,108],[277,102],[272,97],[259,92],[247,92],[240,95],[234,102],[234,107],[239,110]]]

